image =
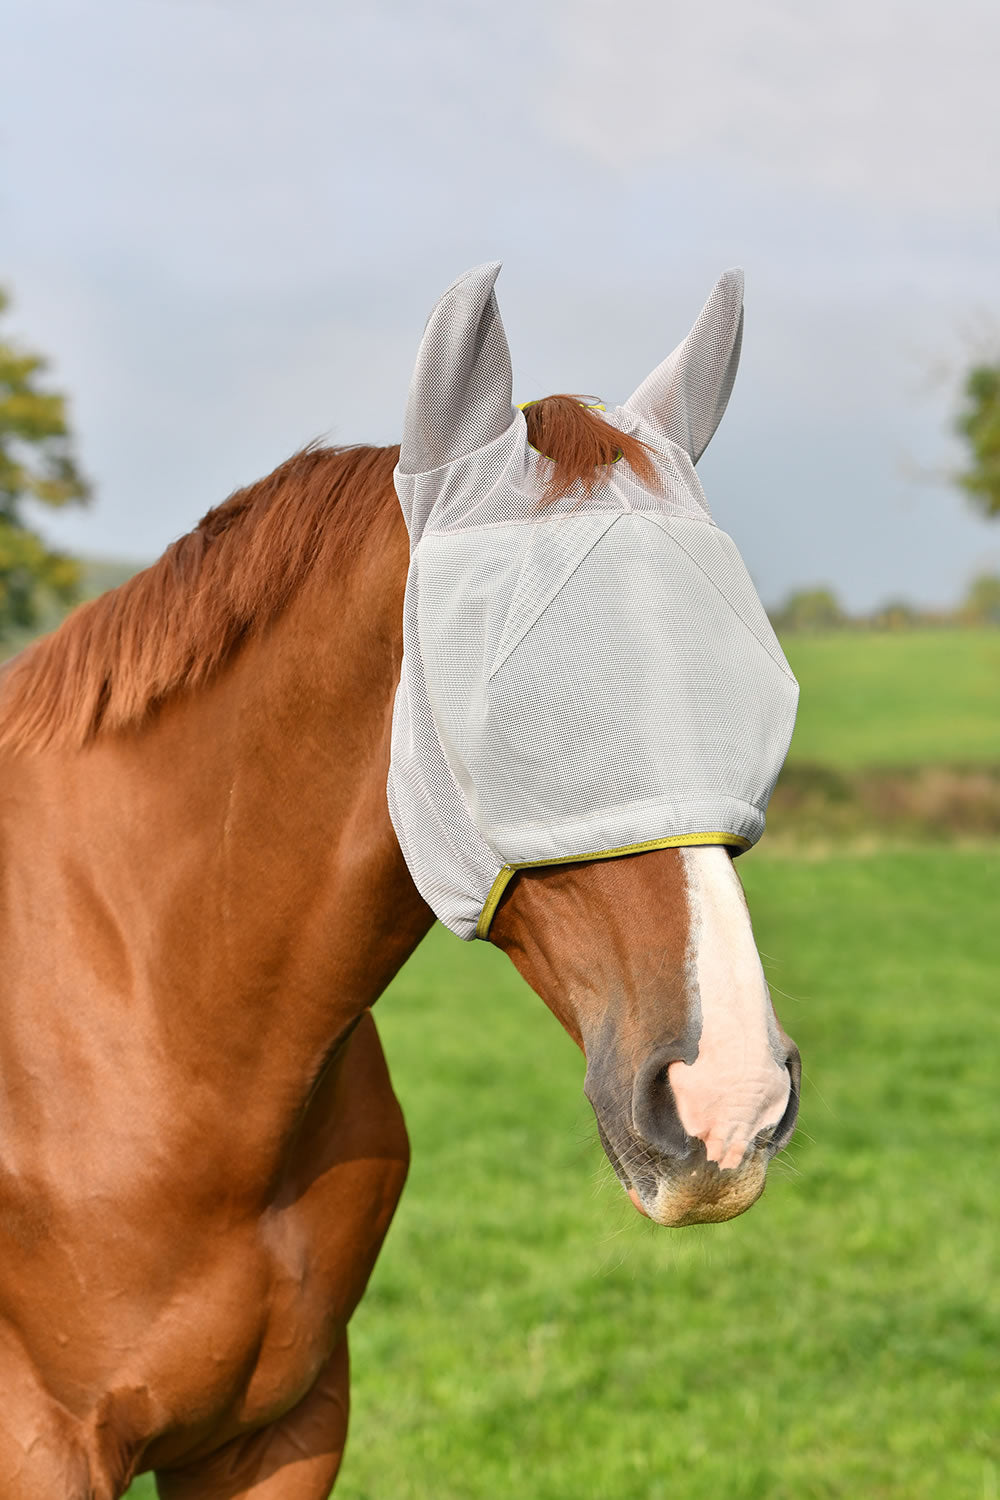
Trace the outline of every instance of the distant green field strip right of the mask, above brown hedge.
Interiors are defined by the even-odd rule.
[[[1000,759],[1000,630],[835,632],[781,644],[802,684],[792,762]]]

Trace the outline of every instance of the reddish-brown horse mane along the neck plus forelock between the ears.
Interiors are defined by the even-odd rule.
[[[645,444],[576,398],[546,396],[525,417],[532,447],[552,460],[543,504],[576,484],[589,492],[619,456],[654,482]],[[399,447],[307,447],[235,490],[157,562],[0,670],[0,750],[81,748],[210,681],[315,568],[343,573],[394,513],[397,459]]]

